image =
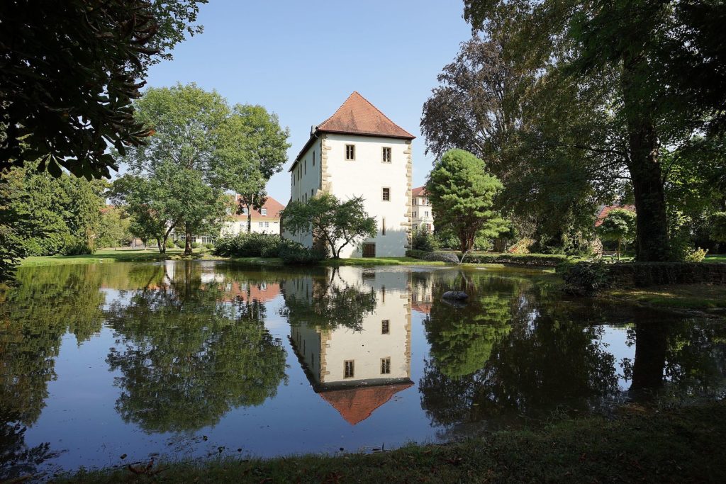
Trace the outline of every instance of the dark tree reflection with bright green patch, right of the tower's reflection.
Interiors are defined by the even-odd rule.
[[[583,327],[567,305],[547,306],[545,313],[537,305],[537,285],[485,275],[473,279],[472,302],[452,319],[461,335],[449,335],[446,317],[451,319],[452,308],[436,299],[426,324],[432,359],[420,391],[433,422],[535,416],[561,403],[584,406],[616,389],[614,358],[597,344],[601,329]],[[466,347],[467,331],[474,333],[474,349]],[[492,337],[478,345],[481,335]]]

